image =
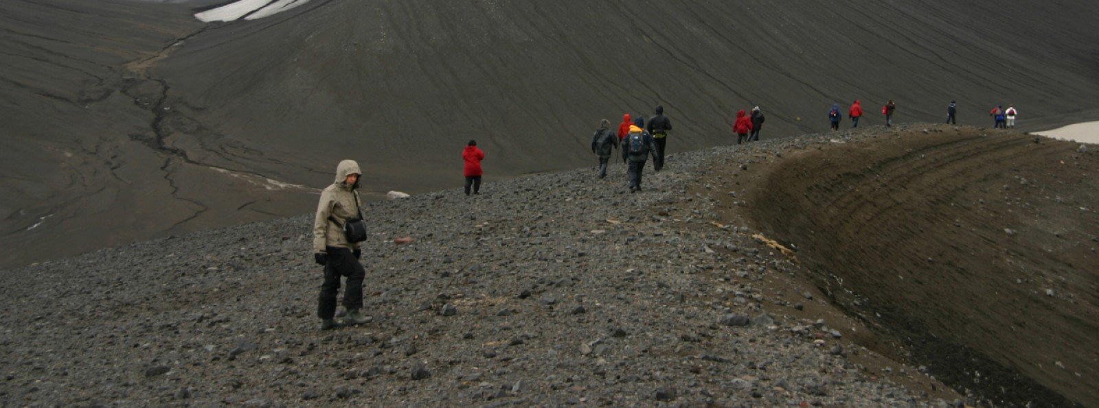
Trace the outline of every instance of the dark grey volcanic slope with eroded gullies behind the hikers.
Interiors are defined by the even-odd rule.
[[[371,193],[587,166],[663,104],[673,152],[823,129],[833,102],[1021,129],[1099,118],[1099,3],[323,1],[202,24],[130,0],[0,3],[0,265],[299,214],[349,152]]]

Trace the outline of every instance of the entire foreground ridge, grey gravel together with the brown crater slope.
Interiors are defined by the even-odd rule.
[[[1092,406],[1096,155],[877,126],[374,202],[330,332],[310,214],[2,271],[0,400]]]

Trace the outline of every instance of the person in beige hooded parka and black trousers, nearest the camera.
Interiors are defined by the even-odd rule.
[[[324,283],[317,301],[317,316],[321,318],[321,330],[336,327],[336,294],[340,277],[347,276],[343,305],[347,308],[344,325],[364,325],[373,318],[364,316],[363,279],[366,270],[358,262],[363,250],[358,242],[366,239],[363,213],[358,206],[358,179],[363,174],[355,160],[343,160],[336,167],[335,181],[321,191],[313,219],[313,260],[324,265]],[[362,236],[348,237],[345,225],[358,223]]]

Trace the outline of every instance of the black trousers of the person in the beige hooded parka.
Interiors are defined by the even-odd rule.
[[[344,307],[348,310],[363,308],[363,279],[366,269],[355,259],[347,248],[326,247],[329,262],[324,264],[324,283],[321,284],[321,295],[317,299],[317,316],[331,319],[336,316],[336,294],[340,292],[340,277],[347,276],[347,287],[344,288]]]

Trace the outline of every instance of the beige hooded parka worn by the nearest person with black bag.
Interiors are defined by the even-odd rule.
[[[313,252],[326,252],[325,247],[347,248],[355,250],[358,243],[347,242],[342,225],[348,219],[358,219],[359,208],[356,206],[358,183],[347,185],[347,174],[359,174],[355,160],[343,160],[336,167],[336,179],[323,191],[321,201],[317,204],[317,217],[313,219]],[[332,216],[340,223],[329,220]]]

